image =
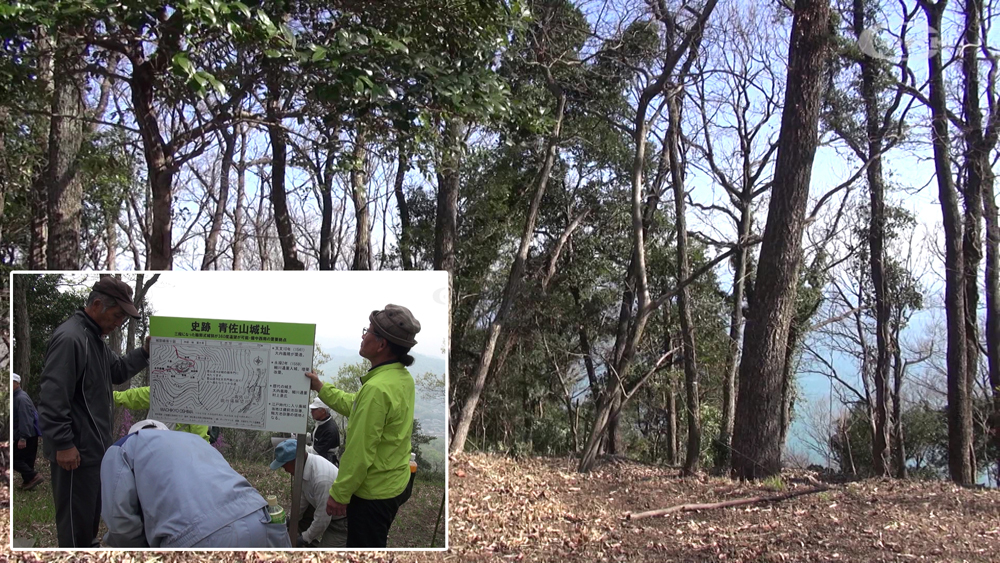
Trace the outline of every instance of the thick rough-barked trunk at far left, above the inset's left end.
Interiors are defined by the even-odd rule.
[[[57,43],[45,182],[49,231],[45,258],[50,270],[76,270],[83,219],[83,183],[78,175],[85,109],[82,50],[65,36]]]

